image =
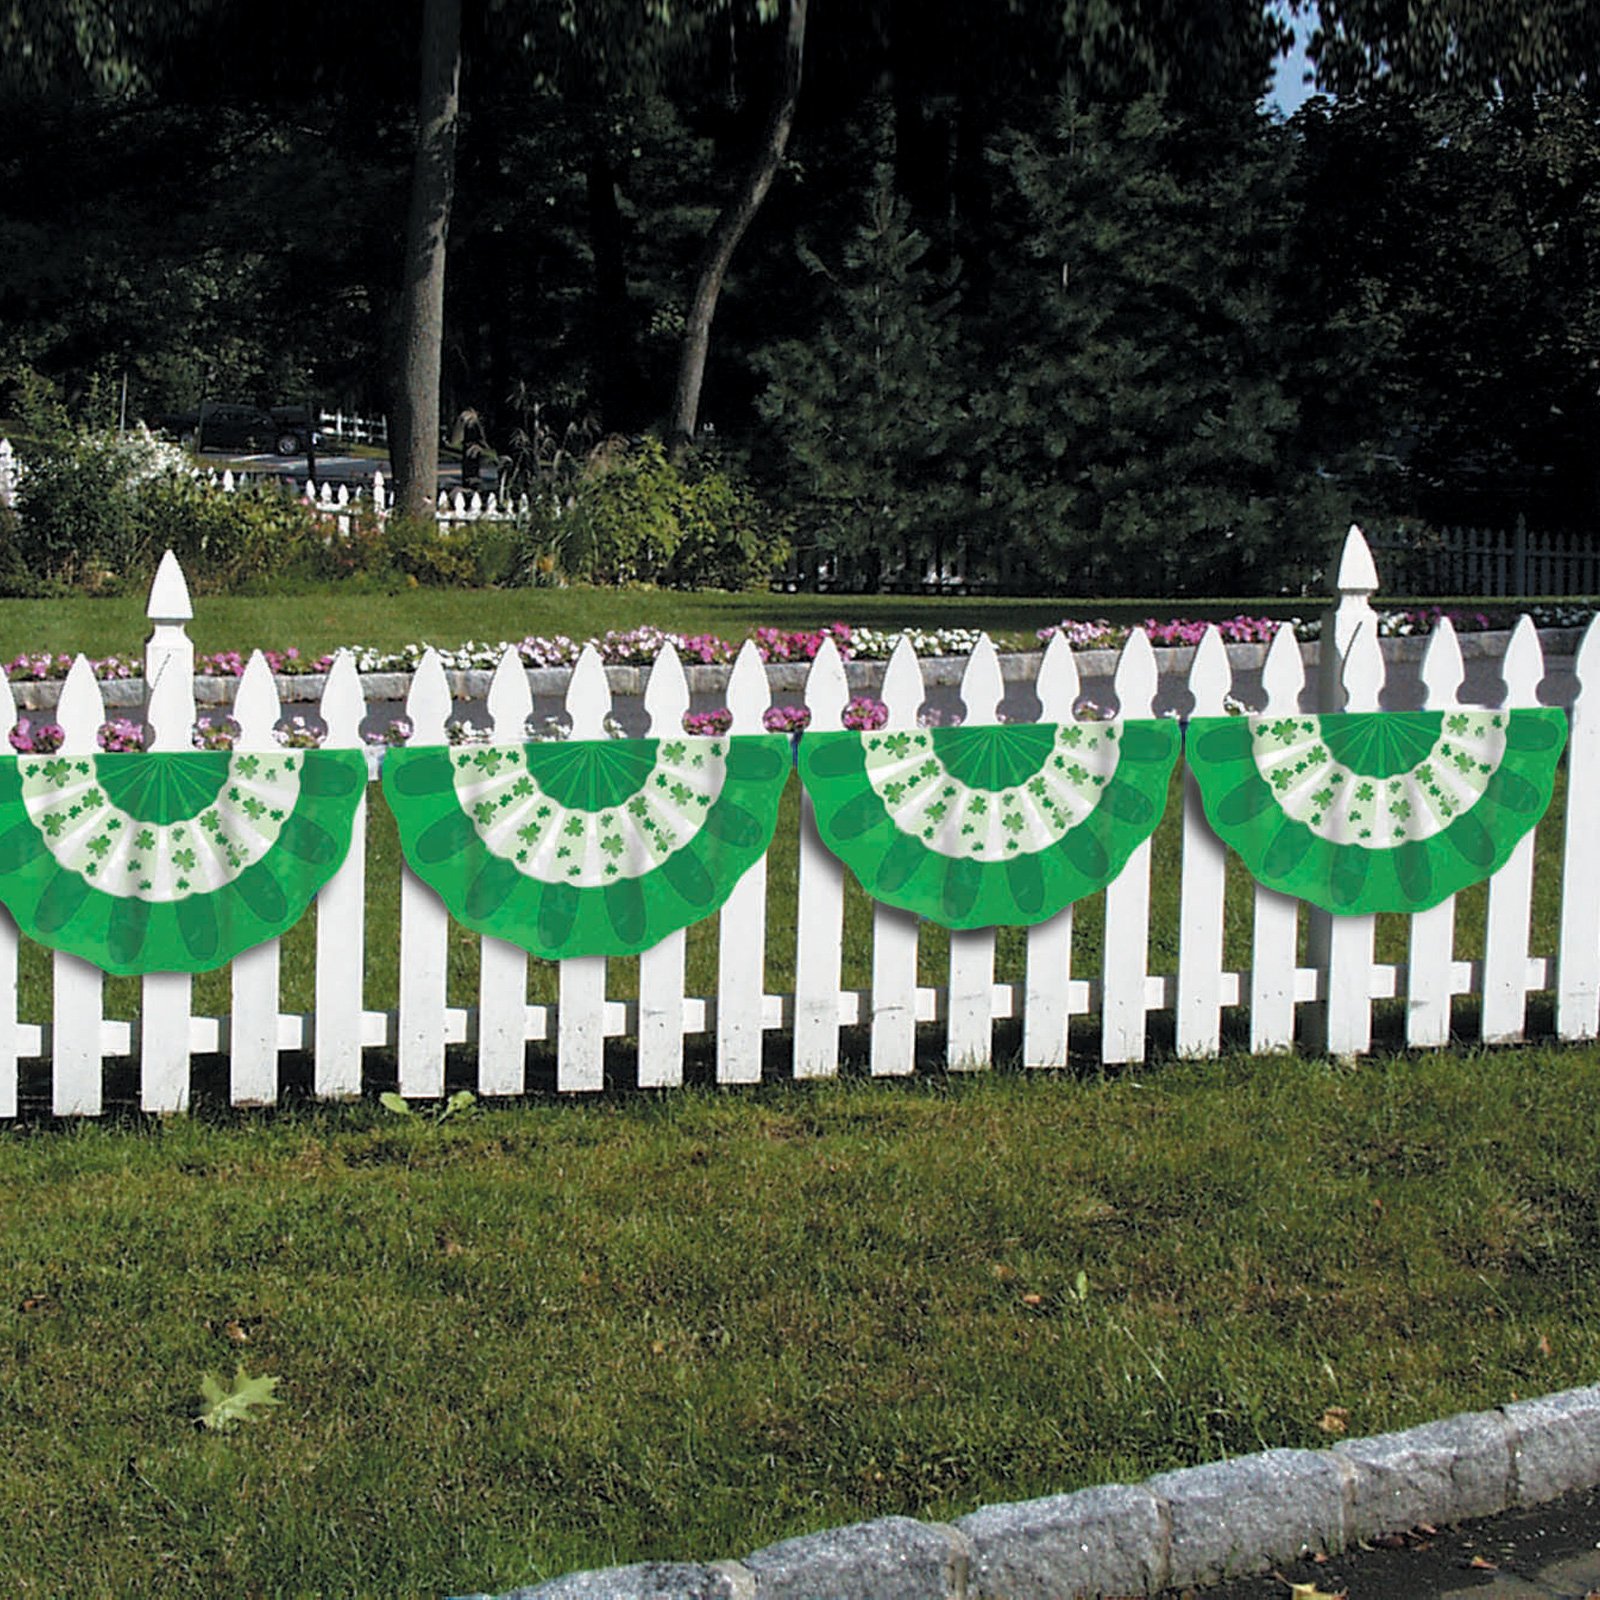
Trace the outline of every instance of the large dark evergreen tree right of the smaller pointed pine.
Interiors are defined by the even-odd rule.
[[[1275,133],[1142,99],[1062,106],[995,152],[1013,232],[973,400],[982,499],[995,542],[1078,592],[1259,594],[1336,526],[1286,382],[1294,206]]]

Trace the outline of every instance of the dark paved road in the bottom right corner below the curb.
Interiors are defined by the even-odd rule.
[[[1310,1584],[1296,1595],[1291,1584]],[[1600,1600],[1600,1491],[1437,1531],[1267,1578],[1192,1590],[1195,1600]]]

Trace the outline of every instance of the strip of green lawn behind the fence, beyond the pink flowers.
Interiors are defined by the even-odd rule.
[[[106,600],[0,600],[0,659],[22,650],[136,654],[149,622],[142,595]],[[742,638],[752,627],[984,627],[997,640],[1037,648],[1040,627],[1064,616],[1136,622],[1147,616],[1312,614],[1325,602],[1082,598],[944,598],[923,595],[686,594],[674,589],[405,589],[357,594],[326,587],[298,595],[200,595],[189,634],[200,650],[283,650],[322,654],[339,645],[397,650],[414,640],[494,643],[528,634],[589,638],[645,622],[683,634]]]

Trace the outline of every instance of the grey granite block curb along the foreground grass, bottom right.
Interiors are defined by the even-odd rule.
[[[742,1560],[568,1573],[499,1600],[1136,1600],[1595,1485],[1600,1387],[1568,1389],[1330,1450],[1267,1450],[954,1523],[880,1517]]]

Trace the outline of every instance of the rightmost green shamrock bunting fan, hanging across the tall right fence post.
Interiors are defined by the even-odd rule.
[[[1211,827],[1267,888],[1414,912],[1506,864],[1565,741],[1552,707],[1197,717],[1189,765]]]

